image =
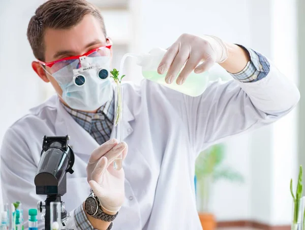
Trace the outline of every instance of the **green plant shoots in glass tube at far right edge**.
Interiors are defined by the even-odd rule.
[[[297,223],[299,219],[299,211],[301,210],[301,198],[303,193],[303,185],[302,185],[302,177],[303,177],[303,170],[302,166],[299,168],[299,174],[298,174],[298,180],[296,185],[296,191],[295,194],[293,194],[293,188],[292,188],[292,179],[290,180],[290,192],[293,199],[293,226],[292,229],[297,229]],[[305,215],[305,213],[304,213]],[[304,222],[303,222],[303,229],[304,229]]]

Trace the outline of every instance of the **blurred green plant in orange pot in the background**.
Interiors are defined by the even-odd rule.
[[[209,207],[214,183],[220,179],[243,182],[243,177],[239,172],[228,166],[223,166],[224,159],[224,145],[218,144],[201,152],[196,160],[197,204],[199,206],[199,218],[204,230],[213,230],[216,227],[215,215]]]

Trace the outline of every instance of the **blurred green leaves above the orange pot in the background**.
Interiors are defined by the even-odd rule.
[[[195,174],[199,187],[202,211],[208,211],[209,193],[212,184],[220,179],[231,182],[244,181],[243,176],[229,166],[223,166],[225,149],[223,144],[211,146],[201,152],[196,160]]]

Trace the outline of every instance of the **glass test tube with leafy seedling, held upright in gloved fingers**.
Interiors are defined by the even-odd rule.
[[[124,90],[121,84],[116,85],[115,87],[115,100],[114,100],[114,131],[115,139],[120,143],[123,141],[123,109],[124,109]],[[120,170],[122,165],[123,155],[120,154],[113,162],[113,168],[115,170]]]

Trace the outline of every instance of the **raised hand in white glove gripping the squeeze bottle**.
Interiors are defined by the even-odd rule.
[[[196,74],[202,73],[210,69],[214,63],[222,63],[227,58],[228,49],[221,39],[215,36],[197,37],[183,34],[168,48],[160,62],[158,73],[163,74],[168,71],[165,81],[170,84],[185,64],[176,80],[180,85],[192,71]],[[198,65],[201,61],[204,62]]]

